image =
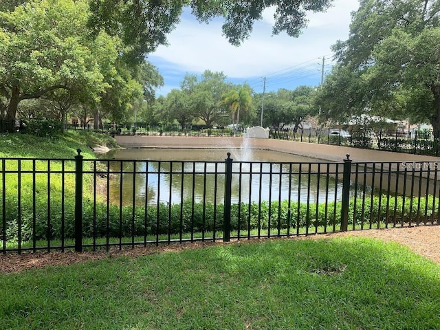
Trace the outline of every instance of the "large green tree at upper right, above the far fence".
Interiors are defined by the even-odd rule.
[[[323,86],[333,87],[324,92],[332,104],[341,93],[350,104],[327,109],[429,121],[440,132],[439,12],[439,0],[360,1],[349,39],[334,46],[341,66]],[[345,90],[347,79],[357,88]]]

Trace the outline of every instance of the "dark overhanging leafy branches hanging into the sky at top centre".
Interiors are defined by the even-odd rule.
[[[94,13],[89,21],[96,32],[123,36],[126,56],[140,60],[158,45],[166,44],[166,35],[179,23],[182,8],[190,6],[199,21],[208,23],[222,17],[223,35],[239,45],[252,32],[255,21],[262,19],[265,8],[276,8],[273,34],[287,32],[298,36],[307,26],[307,12],[327,10],[333,0],[91,0]]]

